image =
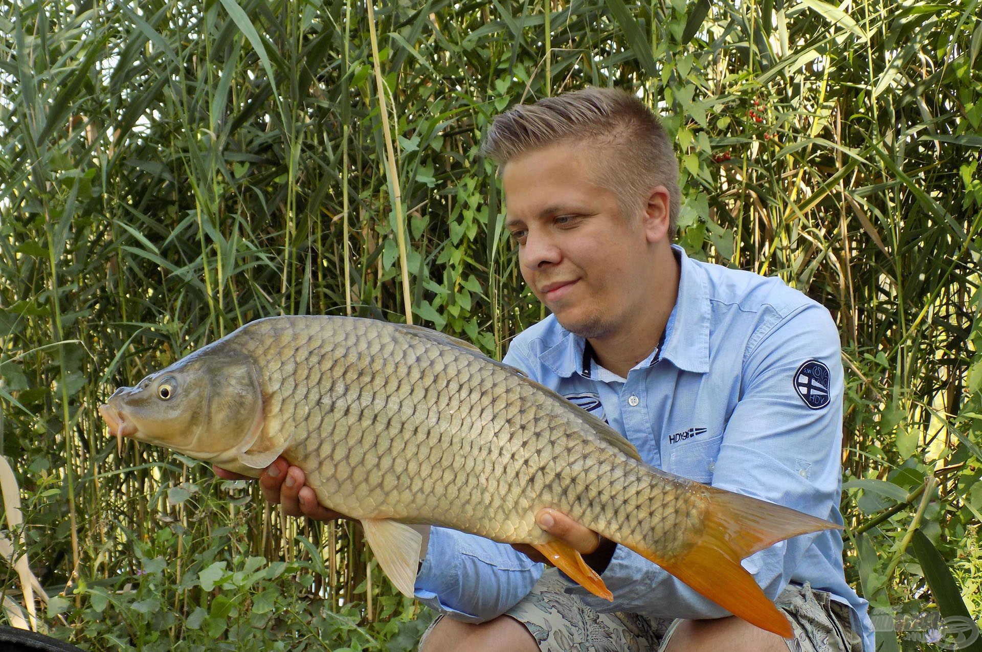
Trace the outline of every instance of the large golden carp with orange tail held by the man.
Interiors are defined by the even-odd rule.
[[[535,521],[573,517],[739,618],[791,625],[741,559],[836,523],[641,461],[620,433],[473,345],[416,325],[257,319],[120,387],[110,434],[246,476],[283,456],[324,507],[361,521],[380,567],[413,595],[420,525],[533,546],[591,593],[597,572]]]

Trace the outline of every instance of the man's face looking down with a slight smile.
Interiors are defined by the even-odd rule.
[[[603,338],[646,300],[650,229],[622,216],[616,195],[596,186],[585,147],[556,144],[509,161],[502,179],[506,226],[521,276],[567,330]]]

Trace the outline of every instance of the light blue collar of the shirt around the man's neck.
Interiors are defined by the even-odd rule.
[[[680,264],[679,298],[669,315],[658,353],[680,369],[695,373],[709,371],[709,289],[705,273],[685,255],[679,245],[672,245]],[[586,341],[560,327],[563,334],[559,342],[544,351],[539,359],[561,378],[574,373],[589,377],[590,349]],[[584,373],[585,371],[585,373]]]

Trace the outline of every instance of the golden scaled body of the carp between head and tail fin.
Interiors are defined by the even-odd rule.
[[[256,359],[266,427],[342,514],[542,543],[535,514],[553,507],[667,556],[692,538],[699,485],[653,486],[653,469],[609,443],[605,423],[438,342],[384,322],[301,317],[263,320],[227,346]]]

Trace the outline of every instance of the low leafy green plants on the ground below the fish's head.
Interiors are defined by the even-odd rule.
[[[220,495],[205,500],[224,507]],[[368,650],[389,639],[397,641],[388,649],[409,649],[398,647],[398,638],[421,633],[427,619],[416,622],[418,608],[401,595],[381,596],[384,620],[359,626],[362,605],[337,608],[318,590],[326,578],[319,558],[246,556],[248,520],[216,527],[200,541],[177,522],[161,523],[146,542],[128,533],[136,570],[80,578],[68,599],[49,603],[49,619],[68,620],[52,634],[70,637],[83,627],[93,644],[124,650]]]

